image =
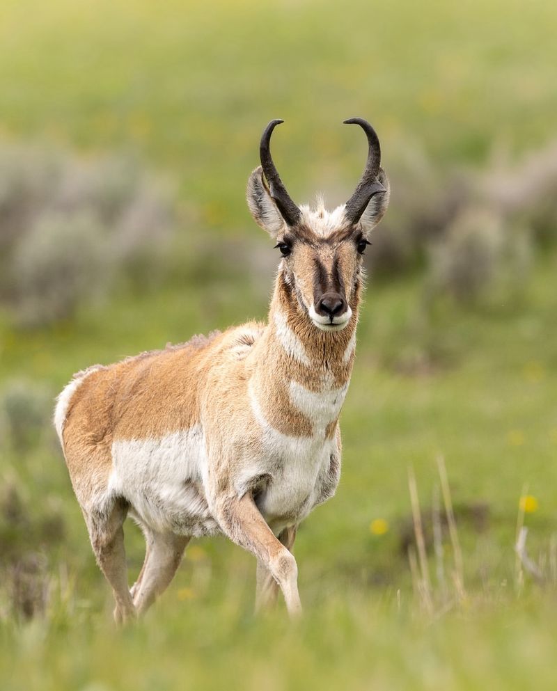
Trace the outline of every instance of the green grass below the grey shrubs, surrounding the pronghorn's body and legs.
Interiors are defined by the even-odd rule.
[[[555,594],[527,576],[517,594],[513,543],[525,483],[540,505],[526,516],[533,557],[547,555],[557,520],[551,374],[557,298],[547,290],[556,263],[556,256],[540,262],[512,315],[436,315],[419,328],[412,319],[419,304],[415,280],[371,283],[343,411],[343,478],[334,500],[308,518],[297,540],[306,614],[295,626],[282,608],[253,618],[253,558],[212,539],[191,549],[146,621],[116,632],[60,454],[54,445],[39,445],[12,456],[8,477],[23,488],[33,521],[49,512],[61,516],[65,533],[60,543],[47,543],[53,591],[45,617],[1,624],[8,688],[551,688]],[[25,342],[8,335],[3,373],[56,388],[91,358],[110,361],[132,347],[157,346],[166,335],[184,334],[187,324],[206,328],[203,300],[214,310],[211,326],[240,319],[246,300],[256,305],[256,316],[264,314],[263,289],[231,283],[215,293],[225,294],[214,303],[208,289],[190,293],[189,301],[173,292],[141,303],[123,298],[80,315],[72,331],[60,327]],[[150,317],[150,335],[141,315]],[[450,358],[428,373],[400,374],[392,351],[404,356],[409,339],[425,354],[433,339],[435,352]],[[411,526],[407,466],[416,470],[427,514],[439,453],[457,511],[467,596],[443,612],[434,581],[437,616],[431,617],[413,593],[400,544]],[[488,516],[478,530],[465,509],[481,503]],[[375,518],[389,522],[386,534],[371,534]],[[133,576],[142,542],[132,525],[127,536]],[[36,534],[20,540],[19,548],[40,544]],[[451,562],[447,538],[449,580]]]

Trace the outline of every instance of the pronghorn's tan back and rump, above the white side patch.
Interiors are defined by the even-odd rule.
[[[259,333],[257,324],[214,331],[74,375],[58,396],[54,419],[80,502],[93,506],[117,494],[114,452],[126,443],[194,429],[207,368],[219,354],[245,356]]]

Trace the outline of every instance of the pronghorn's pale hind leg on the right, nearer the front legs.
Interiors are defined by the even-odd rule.
[[[160,533],[144,529],[147,550],[143,568],[139,574],[132,596],[139,614],[145,612],[161,595],[176,573],[190,537],[173,533]]]

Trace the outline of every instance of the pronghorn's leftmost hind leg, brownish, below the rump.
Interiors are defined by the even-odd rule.
[[[86,516],[93,552],[104,577],[110,583],[116,609],[116,624],[124,624],[135,618],[136,612],[127,584],[127,564],[124,548],[123,523],[127,505],[116,502],[109,514],[104,512]]]

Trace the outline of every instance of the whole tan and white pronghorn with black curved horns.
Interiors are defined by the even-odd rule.
[[[297,526],[334,495],[338,415],[354,363],[362,255],[389,203],[379,139],[345,205],[298,207],[260,141],[247,202],[282,257],[267,323],[95,365],[58,396],[54,424],[97,562],[130,620],[166,589],[191,537],[224,533],[257,558],[256,607],[281,588],[301,611]],[[127,514],[146,539],[130,589]]]

